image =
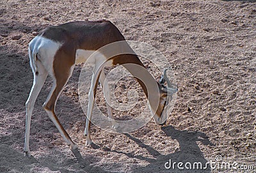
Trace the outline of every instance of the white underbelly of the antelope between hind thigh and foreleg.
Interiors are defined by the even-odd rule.
[[[77,49],[76,50],[76,61],[75,64],[81,63],[104,63],[107,58],[98,51],[95,50],[83,50]],[[113,61],[108,61],[104,66],[113,66]]]

